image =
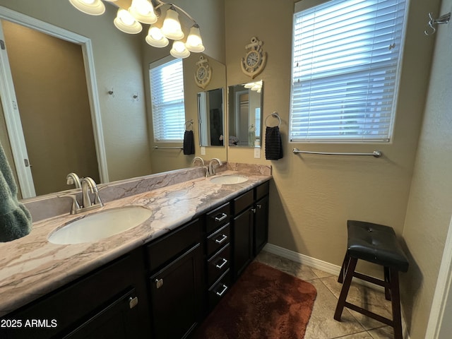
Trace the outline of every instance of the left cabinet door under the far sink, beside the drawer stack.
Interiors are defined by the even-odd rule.
[[[253,260],[253,209],[249,208],[234,218],[234,280]]]

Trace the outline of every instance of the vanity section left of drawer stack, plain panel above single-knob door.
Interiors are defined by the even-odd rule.
[[[194,220],[146,246],[154,339],[186,338],[202,319],[201,228]]]

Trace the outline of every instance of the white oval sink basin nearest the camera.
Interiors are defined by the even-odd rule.
[[[50,234],[49,242],[53,244],[95,242],[141,225],[150,215],[151,210],[141,206],[112,208],[88,214],[85,218],[69,222]]]

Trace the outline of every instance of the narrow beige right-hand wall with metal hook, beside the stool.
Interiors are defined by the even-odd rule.
[[[443,0],[441,11],[434,13],[451,10],[452,0]],[[411,266],[401,291],[411,339],[425,335],[452,215],[451,37],[450,23],[439,26],[403,230]]]

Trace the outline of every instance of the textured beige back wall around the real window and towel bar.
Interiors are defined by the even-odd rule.
[[[434,1],[436,4],[438,1]],[[432,39],[423,35],[425,16],[432,11],[412,0],[408,16],[403,71],[394,137],[391,143],[289,143],[290,69],[294,1],[225,1],[227,83],[245,83],[239,66],[251,37],[263,40],[268,53],[263,79],[263,120],[273,111],[283,122],[284,157],[253,159],[253,150],[228,149],[231,162],[273,165],[269,242],[300,254],[340,265],[346,246],[347,219],[391,225],[402,234],[412,166],[427,90]],[[338,152],[369,152],[383,157],[294,155],[292,148]],[[379,275],[373,267],[362,268]]]

